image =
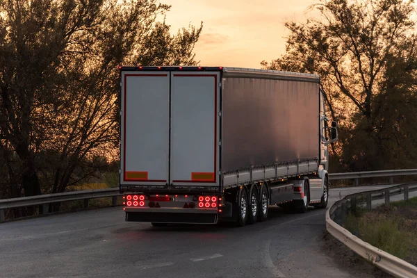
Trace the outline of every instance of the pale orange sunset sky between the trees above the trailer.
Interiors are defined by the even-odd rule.
[[[285,51],[286,20],[304,22],[318,0],[160,0],[171,5],[172,33],[188,24],[203,31],[195,45],[201,65],[259,68]]]

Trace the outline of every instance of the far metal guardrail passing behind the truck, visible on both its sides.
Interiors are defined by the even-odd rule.
[[[407,170],[384,170],[372,172],[348,172],[329,174],[330,180],[336,179],[354,179],[354,184],[359,184],[359,178],[366,177],[390,177],[392,183],[394,176],[404,176],[417,174],[417,169]],[[22,206],[38,206],[43,205],[40,212],[42,214],[49,213],[49,204],[58,202],[75,201],[79,199],[84,200],[84,207],[88,207],[88,200],[94,198],[113,197],[113,206],[116,204],[116,198],[119,196],[119,188],[109,188],[100,190],[83,190],[67,193],[56,193],[48,195],[40,195],[33,197],[21,197],[13,199],[0,199],[0,222],[4,222],[4,210],[6,208],[17,208]]]

